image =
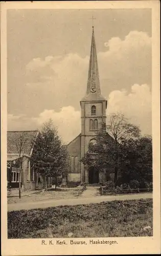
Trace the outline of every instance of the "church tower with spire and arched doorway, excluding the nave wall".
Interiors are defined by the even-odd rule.
[[[95,142],[96,132],[101,123],[106,122],[107,100],[101,95],[94,27],[91,36],[91,49],[86,95],[81,104],[81,158],[88,151],[90,142]],[[81,164],[81,182],[99,183],[99,174],[94,168],[86,169]]]

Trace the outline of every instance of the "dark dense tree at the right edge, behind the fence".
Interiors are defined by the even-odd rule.
[[[122,147],[120,182],[152,182],[152,138],[128,140]]]

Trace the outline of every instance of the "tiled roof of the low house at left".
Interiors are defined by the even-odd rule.
[[[21,151],[21,155],[31,155],[33,141],[37,135],[38,131],[7,132],[7,154],[18,155],[18,151]]]

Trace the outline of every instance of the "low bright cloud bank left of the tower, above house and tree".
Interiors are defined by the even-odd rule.
[[[64,143],[73,140],[81,132],[80,111],[76,111],[73,106],[61,108],[59,112],[55,110],[44,110],[37,117],[27,117],[25,115],[8,115],[8,131],[23,131],[41,129],[44,122],[52,119],[54,126]]]

